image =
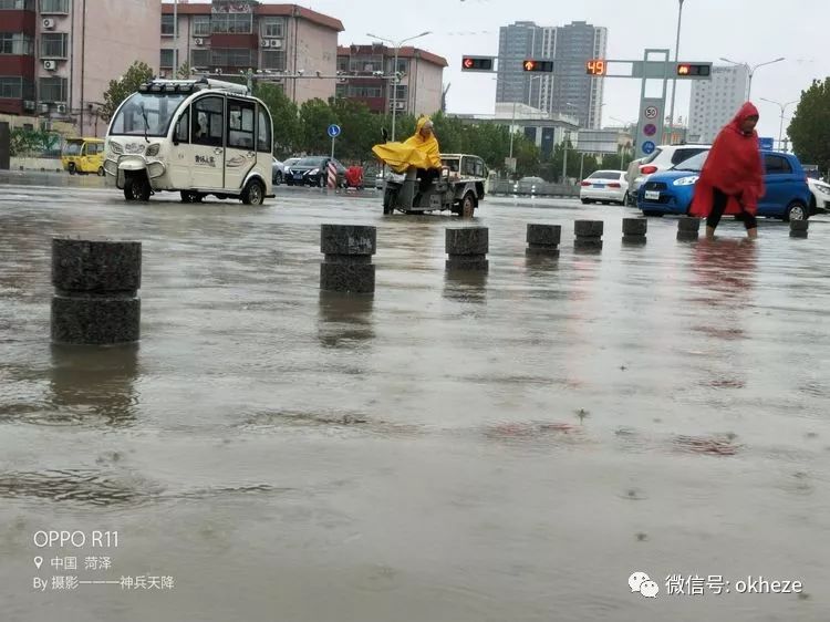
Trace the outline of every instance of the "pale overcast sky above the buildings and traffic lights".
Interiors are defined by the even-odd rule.
[[[270,2],[268,2],[270,3]],[[609,29],[608,58],[642,59],[645,48],[674,49],[677,0],[298,0],[339,18],[345,32],[340,44],[367,43],[367,32],[401,40],[424,30],[433,34],[416,44],[447,59],[445,83],[449,112],[488,113],[496,100],[495,74],[461,73],[464,54],[498,55],[499,27],[515,21],[562,25],[585,20]],[[778,56],[785,62],[758,70],[753,101],[760,110],[761,136],[778,136],[780,110],[759,97],[786,103],[798,100],[813,77],[830,75],[828,28],[830,0],[685,0],[679,60],[718,63],[726,56],[750,65]],[[674,52],[672,52],[672,58]],[[720,63],[723,64],[723,63]],[[677,89],[675,116],[688,112],[689,82]],[[606,79],[603,123],[610,117],[634,121],[640,82]],[[667,105],[667,104],[666,104]],[[795,106],[787,108],[787,116]],[[786,127],[786,123],[785,123]]]

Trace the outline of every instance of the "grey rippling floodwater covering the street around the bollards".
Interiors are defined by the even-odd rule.
[[[4,622],[830,618],[827,218],[754,245],[651,219],[623,247],[635,211],[572,200],[461,222],[383,217],[373,193],[0,184]],[[573,251],[583,217],[600,253]],[[377,226],[374,297],[319,291],[323,222]],[[562,225],[558,260],[525,258],[528,222]],[[444,270],[445,228],[468,225],[489,227],[485,277]],[[52,236],[143,242],[138,346],[50,346]],[[705,593],[668,594],[675,574]],[[174,587],[53,590],[65,576]],[[748,577],[802,593],[737,593]]]

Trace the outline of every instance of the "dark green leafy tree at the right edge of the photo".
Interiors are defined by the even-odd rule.
[[[801,162],[817,164],[820,170],[830,168],[830,77],[813,80],[801,91],[787,134]]]

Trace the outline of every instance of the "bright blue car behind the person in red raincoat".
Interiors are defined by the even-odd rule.
[[[655,173],[640,186],[637,207],[645,216],[688,214],[695,184],[709,152],[699,153],[668,170]],[[766,193],[758,216],[805,220],[810,216],[810,188],[801,163],[792,154],[761,151]]]

